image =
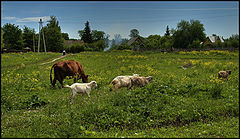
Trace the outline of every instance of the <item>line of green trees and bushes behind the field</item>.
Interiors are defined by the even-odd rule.
[[[233,34],[230,38],[225,39],[224,42],[216,42],[211,44],[204,44],[207,37],[204,33],[205,29],[199,20],[185,21],[181,20],[176,29],[169,29],[167,26],[166,32],[163,36],[149,35],[142,37],[137,29],[130,30],[130,39],[122,38],[120,34],[115,34],[114,39],[109,40],[110,35],[104,31],[91,30],[89,22],[85,23],[85,28],[79,30],[78,34],[83,43],[73,43],[66,45],[65,40],[69,39],[68,33],[63,33],[59,22],[55,16],[51,16],[47,21],[47,25],[40,30],[40,35],[44,33],[44,38],[47,46],[47,51],[62,52],[66,50],[71,53],[78,53],[81,51],[103,51],[103,50],[160,50],[160,49],[191,49],[191,48],[239,48],[239,35]],[[131,45],[127,43],[132,39],[138,37],[143,45],[134,42]],[[35,33],[34,29],[24,26],[23,31],[19,26],[6,23],[1,28],[1,48],[23,50],[29,47],[32,51],[37,51],[37,42],[39,34]],[[40,51],[43,51],[43,38],[40,36]],[[35,46],[35,48],[33,47]],[[136,49],[138,47],[138,49]]]

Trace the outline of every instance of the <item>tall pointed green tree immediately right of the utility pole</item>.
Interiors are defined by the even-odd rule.
[[[47,51],[62,52],[64,39],[62,37],[59,22],[55,16],[50,16],[50,20],[44,29]]]

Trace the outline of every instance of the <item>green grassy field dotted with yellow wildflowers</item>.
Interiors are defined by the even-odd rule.
[[[98,84],[72,105],[69,88],[50,84],[56,61],[40,65],[59,56],[1,55],[1,137],[239,138],[239,51],[69,55],[61,60],[79,61]],[[228,81],[217,79],[220,70],[232,70]],[[153,81],[112,90],[114,77],[133,73]]]

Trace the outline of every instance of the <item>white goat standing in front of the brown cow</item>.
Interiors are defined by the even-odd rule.
[[[88,95],[88,99],[90,98],[90,92],[91,89],[94,87],[97,87],[97,82],[96,81],[91,81],[90,83],[74,83],[71,86],[65,85],[64,87],[68,87],[72,91],[72,96],[71,96],[71,103],[73,104],[73,98],[77,93],[86,93]]]

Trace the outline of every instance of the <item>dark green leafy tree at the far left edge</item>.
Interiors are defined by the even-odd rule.
[[[5,47],[21,50],[23,48],[23,35],[19,26],[6,23],[3,26],[3,42]]]

